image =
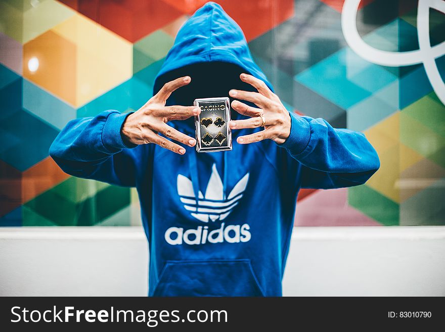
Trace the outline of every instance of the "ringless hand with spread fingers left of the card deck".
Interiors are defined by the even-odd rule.
[[[135,113],[130,114],[122,125],[121,134],[124,140],[133,144],[154,143],[162,148],[171,150],[183,155],[186,150],[162,137],[158,132],[166,137],[179,141],[189,147],[196,144],[196,139],[170,127],[166,122],[170,120],[185,120],[191,116],[198,115],[201,110],[195,106],[165,106],[165,102],[170,97],[171,92],[181,86],[189,84],[189,76],[180,77],[165,85],[155,94],[143,107]]]

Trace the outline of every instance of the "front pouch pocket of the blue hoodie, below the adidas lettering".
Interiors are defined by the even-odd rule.
[[[249,259],[167,261],[152,296],[264,296]]]

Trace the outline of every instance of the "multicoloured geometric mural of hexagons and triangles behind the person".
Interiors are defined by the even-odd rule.
[[[0,226],[140,224],[135,189],[69,176],[48,150],[71,119],[139,109],[205,2],[0,2]],[[303,189],[296,225],[445,225],[445,106],[421,62],[362,57],[342,31],[344,0],[216,2],[289,111],[362,131],[379,154],[365,185]],[[417,17],[417,0],[364,0],[357,30],[371,48],[416,51]],[[443,31],[445,14],[429,10],[433,48]],[[434,64],[443,81],[445,52]]]

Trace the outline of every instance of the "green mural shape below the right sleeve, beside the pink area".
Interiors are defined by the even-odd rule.
[[[348,203],[385,226],[398,225],[398,204],[367,185],[350,187]]]

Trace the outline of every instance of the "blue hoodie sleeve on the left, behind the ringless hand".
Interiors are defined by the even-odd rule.
[[[70,175],[135,186],[140,149],[125,145],[120,135],[128,115],[105,111],[70,121],[51,145],[50,156]]]

